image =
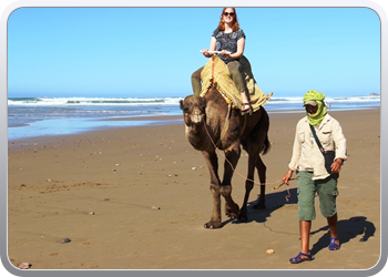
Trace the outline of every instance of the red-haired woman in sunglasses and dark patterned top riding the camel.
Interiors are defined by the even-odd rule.
[[[243,105],[241,110],[243,113],[247,113],[252,107],[247,98],[248,90],[242,75],[243,65],[239,61],[239,58],[244,53],[244,47],[245,33],[239,29],[236,10],[234,8],[224,8],[221,13],[218,27],[212,34],[210,49],[204,49],[201,52],[204,57],[211,58],[212,53],[208,51],[221,51],[218,58],[227,65],[231,78],[242,95]],[[202,90],[202,70],[203,68],[192,74],[193,91],[197,95],[201,94]]]

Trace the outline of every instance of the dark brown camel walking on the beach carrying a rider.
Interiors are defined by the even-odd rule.
[[[254,171],[258,172],[261,195],[256,208],[265,208],[266,166],[261,154],[269,150],[269,117],[262,106],[252,115],[242,115],[239,110],[231,109],[213,83],[203,96],[188,95],[181,100],[185,135],[190,144],[201,151],[211,175],[210,188],[213,194],[213,213],[205,228],[221,228],[221,195],[225,198],[225,213],[239,222],[247,220],[247,202],[254,187]],[[225,154],[224,176],[218,176],[216,147]],[[242,208],[232,198],[232,176],[241,156],[241,145],[248,153],[248,173],[245,181],[245,196]]]

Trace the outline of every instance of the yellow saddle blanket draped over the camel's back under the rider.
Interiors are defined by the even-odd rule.
[[[243,66],[243,78],[246,82],[246,86],[249,91],[247,95],[249,99],[251,106],[254,112],[264,106],[267,103],[267,100],[270,99],[273,93],[268,95],[264,94],[264,92],[258,88],[249,61],[243,55],[239,58],[239,62]],[[213,80],[212,80],[213,78]],[[201,72],[202,80],[202,92],[200,96],[204,96],[212,83],[217,83],[217,90],[225,98],[226,102],[232,102],[232,106],[241,109],[243,104],[243,100],[241,93],[238,92],[236,85],[234,84],[227,65],[216,55],[208,59],[204,69]]]

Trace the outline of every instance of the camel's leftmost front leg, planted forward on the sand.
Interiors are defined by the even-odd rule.
[[[222,223],[221,223],[221,192],[219,192],[219,177],[218,177],[218,160],[217,160],[217,154],[214,151],[202,152],[210,174],[211,174],[211,192],[213,196],[213,213],[211,220],[205,223],[204,227],[205,228],[221,228]]]

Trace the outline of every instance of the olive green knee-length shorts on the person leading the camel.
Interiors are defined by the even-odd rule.
[[[319,208],[326,218],[337,213],[336,198],[338,195],[338,174],[331,174],[325,179],[313,181],[312,172],[298,172],[298,217],[299,220],[315,219],[315,194],[319,196]]]

